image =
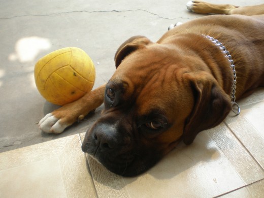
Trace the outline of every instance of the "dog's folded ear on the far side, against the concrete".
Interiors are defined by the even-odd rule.
[[[131,52],[143,48],[149,43],[152,43],[148,38],[143,36],[135,36],[126,40],[115,53],[115,64],[116,68],[122,62],[122,60]]]

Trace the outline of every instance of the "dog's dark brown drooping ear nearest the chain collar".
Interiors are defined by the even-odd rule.
[[[191,144],[202,130],[220,124],[232,110],[231,99],[213,76],[199,74],[189,76],[194,94],[194,107],[185,123],[183,142]]]

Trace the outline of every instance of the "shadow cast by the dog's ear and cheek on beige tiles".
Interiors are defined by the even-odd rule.
[[[200,134],[200,137],[196,137],[191,145],[185,145],[180,142],[174,150],[164,156],[147,174],[156,179],[166,180],[177,177],[187,170],[191,173],[191,170],[217,160],[220,157],[220,153],[217,148],[212,146],[212,141],[209,135],[204,132],[204,134]]]

